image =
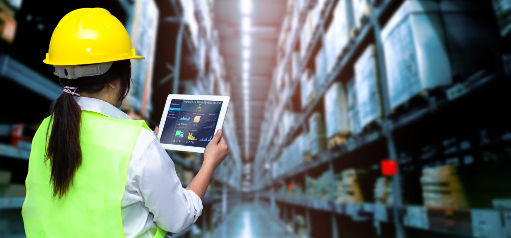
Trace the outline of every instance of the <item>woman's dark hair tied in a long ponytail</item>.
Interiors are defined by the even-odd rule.
[[[98,93],[108,83],[121,81],[119,100],[126,98],[131,83],[131,63],[129,60],[114,61],[108,71],[102,75],[82,77],[78,79],[60,79],[62,86],[78,87],[77,93]],[[62,198],[69,186],[73,184],[73,176],[82,163],[80,147],[81,110],[74,96],[62,92],[50,109],[53,126],[46,151],[46,160],[50,160],[52,172],[50,181],[53,183],[53,196]],[[50,124],[51,125],[51,124]],[[48,132],[50,131],[48,125]]]

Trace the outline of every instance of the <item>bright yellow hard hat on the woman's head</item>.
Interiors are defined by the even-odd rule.
[[[122,23],[103,8],[80,8],[58,23],[42,62],[52,65],[95,64],[144,59],[135,54]]]

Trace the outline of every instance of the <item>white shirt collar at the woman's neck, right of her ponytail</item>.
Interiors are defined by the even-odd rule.
[[[76,103],[78,103],[78,106],[80,106],[82,110],[97,112],[114,119],[131,119],[128,114],[103,100],[87,97],[73,98],[75,98]]]

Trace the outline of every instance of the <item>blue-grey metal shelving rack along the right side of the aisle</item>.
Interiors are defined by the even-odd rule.
[[[312,32],[311,41],[307,47],[307,51],[305,57],[303,57],[303,61],[300,62],[300,71],[304,72],[304,70],[310,65],[310,60],[313,58],[313,54],[315,49],[317,48],[317,44],[322,41],[324,37],[324,28],[326,27],[327,19],[330,17],[333,11],[333,7],[335,6],[337,0],[327,0],[326,6],[321,11],[320,19],[318,20],[317,26],[314,28]],[[368,15],[367,22],[365,25],[359,29],[358,35],[352,39],[352,42],[344,54],[342,59],[336,62],[336,65],[332,69],[332,72],[327,74],[326,80],[320,80],[326,82],[319,86],[316,91],[316,99],[313,100],[312,103],[308,105],[308,108],[304,111],[299,112],[297,116],[297,120],[294,125],[291,126],[291,129],[285,134],[284,138],[286,138],[281,144],[273,145],[273,140],[270,133],[262,134],[259,145],[258,152],[255,156],[255,161],[257,164],[255,166],[259,168],[261,174],[256,175],[260,179],[256,179],[259,183],[254,184],[252,192],[256,193],[256,197],[265,199],[269,201],[269,204],[272,208],[275,207],[276,202],[280,202],[283,204],[287,204],[291,207],[292,214],[295,214],[295,207],[301,207],[305,209],[306,216],[306,224],[307,224],[307,235],[310,236],[310,210],[319,210],[323,212],[332,213],[332,237],[339,236],[339,230],[336,227],[336,217],[335,215],[345,215],[356,217],[357,219],[363,220],[373,220],[375,222],[384,222],[384,223],[393,223],[395,227],[396,237],[402,238],[406,237],[405,227],[413,227],[419,228],[423,230],[442,232],[447,234],[457,234],[457,235],[474,235],[472,230],[467,229],[447,229],[445,227],[435,227],[435,225],[430,225],[429,227],[416,227],[405,224],[404,220],[407,216],[408,209],[421,209],[424,211],[424,215],[428,217],[429,220],[448,220],[451,218],[446,218],[448,214],[452,215],[456,213],[457,215],[461,214],[458,219],[464,223],[471,222],[471,212],[478,211],[481,209],[449,209],[449,208],[430,208],[423,206],[408,206],[403,204],[402,200],[402,192],[401,192],[401,177],[398,173],[397,175],[392,176],[392,193],[394,202],[392,205],[385,204],[375,204],[375,203],[336,203],[335,201],[315,201],[310,199],[297,199],[292,197],[282,197],[277,196],[275,194],[275,187],[283,184],[283,181],[291,181],[294,183],[294,178],[298,175],[307,176],[309,171],[317,170],[318,168],[327,168],[325,170],[332,170],[333,165],[337,161],[342,160],[349,153],[360,150],[363,148],[367,148],[368,145],[373,144],[375,141],[385,141],[387,156],[390,159],[396,160],[398,157],[397,149],[396,149],[396,141],[393,138],[393,132],[397,129],[403,128],[407,125],[411,125],[414,123],[418,123],[422,118],[425,118],[428,115],[437,113],[439,111],[445,110],[449,105],[454,104],[457,101],[462,100],[464,96],[479,90],[494,81],[499,79],[509,77],[509,68],[511,65],[509,63],[509,56],[504,55],[502,58],[502,65],[497,67],[497,70],[493,70],[492,72],[487,72],[487,70],[482,69],[476,74],[468,77],[463,82],[455,83],[451,85],[449,88],[445,90],[445,97],[440,98],[439,100],[431,100],[427,106],[422,108],[417,108],[415,110],[407,111],[404,114],[399,116],[393,115],[390,103],[389,96],[387,91],[387,80],[385,73],[385,60],[383,57],[383,44],[381,35],[381,27],[385,24],[385,22],[381,22],[384,14],[388,14],[391,12],[395,12],[399,7],[400,3],[403,0],[387,0],[387,1],[370,1],[371,2],[371,13]],[[377,4],[375,4],[377,3]],[[300,27],[303,26],[303,18],[304,12],[308,9],[300,12],[299,15],[299,24],[298,30],[299,33]],[[293,37],[291,40],[290,49],[295,49],[297,37],[299,34],[291,34],[288,37]],[[282,150],[290,144],[290,142],[295,138],[295,136],[300,133],[300,131],[306,128],[307,118],[311,115],[313,111],[316,110],[316,106],[322,102],[322,97],[326,93],[329,86],[338,81],[339,75],[342,75],[348,67],[352,67],[355,61],[355,57],[359,55],[358,52],[363,50],[363,47],[367,46],[367,43],[370,40],[374,40],[376,49],[377,49],[377,61],[378,61],[378,72],[379,72],[379,83],[380,92],[382,93],[382,107],[384,120],[380,123],[380,128],[378,130],[373,130],[369,132],[360,133],[357,135],[352,135],[347,141],[345,141],[340,146],[333,148],[332,150],[327,150],[326,152],[317,156],[313,161],[304,162],[299,164],[296,168],[292,168],[280,176],[271,179],[271,164],[273,161],[277,160]],[[301,45],[304,47],[304,45]],[[320,49],[321,51],[321,49]],[[283,56],[285,63],[285,72],[289,70],[289,59],[291,58],[291,52],[287,52],[285,56]],[[299,74],[298,74],[299,75]],[[300,75],[298,76],[300,77]],[[282,113],[285,111],[284,109],[287,107],[292,107],[292,97],[295,94],[295,91],[298,90],[298,84],[300,83],[299,78],[294,78],[291,81],[289,88],[279,91],[275,88],[275,84],[272,84],[272,88],[270,89],[269,100],[266,104],[266,108],[268,115],[265,117],[266,121],[263,123],[263,127],[266,131],[277,131],[278,128],[278,120],[272,120],[274,118],[282,117]],[[274,79],[275,80],[275,79]],[[282,93],[284,91],[285,93]],[[281,93],[281,95],[278,95]],[[275,103],[275,99],[277,102]],[[335,184],[335,178],[332,176],[332,184]],[[285,184],[285,183],[284,183]],[[335,189],[335,188],[334,188]],[[287,207],[284,207],[287,209]],[[505,221],[511,221],[511,214],[507,211],[497,210],[497,209],[482,209],[490,212],[495,212],[496,216],[501,216]],[[463,220],[466,219],[466,220]],[[467,220],[468,219],[468,220]],[[292,227],[294,227],[294,221]],[[467,225],[470,227],[470,225]],[[466,228],[466,227],[464,227]]]

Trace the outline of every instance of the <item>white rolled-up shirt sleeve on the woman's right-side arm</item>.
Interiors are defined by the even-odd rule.
[[[176,233],[197,221],[202,213],[202,200],[182,187],[174,162],[155,137],[137,166],[135,180],[158,227]]]

